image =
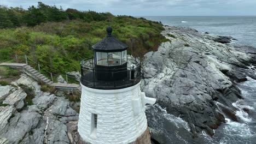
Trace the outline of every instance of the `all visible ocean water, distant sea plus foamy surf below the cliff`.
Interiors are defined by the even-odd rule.
[[[146,16],[145,18],[161,21],[164,25],[191,27],[200,32],[231,36],[238,39],[235,43],[256,47],[256,16]],[[253,66],[249,68],[255,69]],[[149,126],[166,135],[165,138],[160,137],[166,144],[255,144],[256,80],[251,77],[247,79],[248,81],[238,84],[244,99],[232,104],[237,108],[238,122],[225,118],[226,123],[214,130],[213,137],[201,133],[197,139],[192,139],[187,122],[167,113],[159,105],[147,107]],[[245,108],[249,110],[248,113],[243,111]]]

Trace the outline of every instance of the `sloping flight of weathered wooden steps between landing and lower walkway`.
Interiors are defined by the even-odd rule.
[[[24,70],[27,71],[27,73],[29,73],[31,76],[33,76],[35,79],[44,82],[46,85],[51,85],[53,82],[48,79],[46,76],[44,76],[43,74],[40,74],[39,71],[37,71],[36,69],[32,68],[30,65],[25,65]]]

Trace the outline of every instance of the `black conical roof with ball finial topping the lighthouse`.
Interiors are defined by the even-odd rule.
[[[98,41],[95,45],[92,46],[92,49],[96,51],[122,51],[127,49],[127,45],[119,41],[117,38],[113,37],[111,35],[112,33],[112,27],[107,27],[107,37],[102,39],[101,41]]]

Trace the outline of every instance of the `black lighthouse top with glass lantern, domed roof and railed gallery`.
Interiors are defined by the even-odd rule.
[[[128,46],[113,37],[112,27],[106,31],[106,37],[92,46],[94,57],[81,62],[82,83],[101,89],[134,85],[141,80],[139,59],[127,56]]]

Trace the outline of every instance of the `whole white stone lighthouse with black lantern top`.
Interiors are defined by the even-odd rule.
[[[82,86],[78,132],[90,144],[150,144],[146,104],[141,92],[141,62],[112,35],[92,46],[94,57],[81,61]]]

